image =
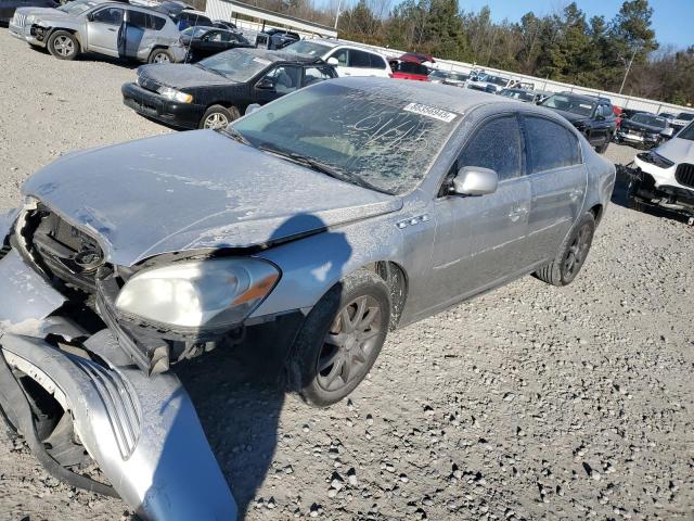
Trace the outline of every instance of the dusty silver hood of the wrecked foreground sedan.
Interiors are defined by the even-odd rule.
[[[214,130],[66,155],[26,195],[93,236],[113,264],[163,253],[270,246],[402,207]]]

